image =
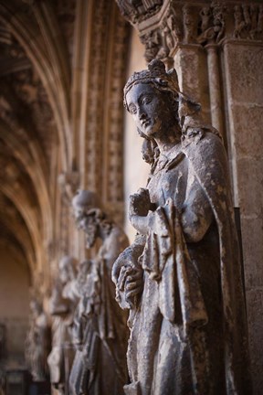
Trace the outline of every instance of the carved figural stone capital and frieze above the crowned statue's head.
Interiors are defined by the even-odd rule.
[[[116,1],[122,15],[139,31],[147,61],[173,58],[178,45],[220,45],[230,38],[247,41],[263,38],[262,4],[164,0],[154,15],[141,9],[143,16],[134,18],[127,11],[130,1]]]

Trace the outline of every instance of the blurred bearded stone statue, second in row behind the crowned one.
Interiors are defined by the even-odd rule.
[[[70,394],[121,395],[128,379],[127,314],[115,301],[111,269],[128,240],[102,210],[95,193],[80,190],[72,204],[87,248],[98,239],[102,244],[97,256],[80,269],[82,296],[75,332],[78,351],[70,373]]]

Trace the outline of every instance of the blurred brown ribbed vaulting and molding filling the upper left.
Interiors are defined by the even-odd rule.
[[[0,205],[1,234],[47,289],[61,254],[84,253],[68,204],[77,187],[123,216],[129,31],[113,0],[0,2],[0,193],[16,209],[9,220]]]

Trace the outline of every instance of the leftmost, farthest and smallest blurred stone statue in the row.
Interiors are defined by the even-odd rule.
[[[50,327],[42,304],[30,302],[30,326],[26,336],[26,363],[34,381],[46,381],[49,377],[47,356],[50,351]]]

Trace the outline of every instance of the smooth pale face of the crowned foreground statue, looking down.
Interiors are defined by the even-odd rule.
[[[174,107],[166,92],[152,84],[138,83],[126,95],[137,128],[148,137],[158,136],[174,122]]]

